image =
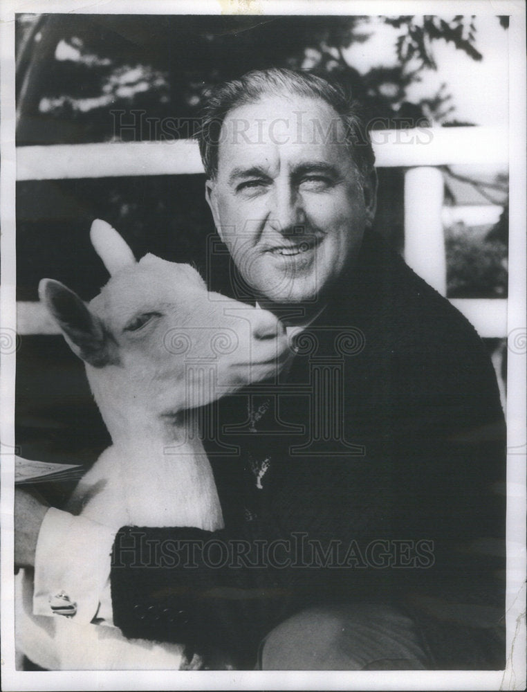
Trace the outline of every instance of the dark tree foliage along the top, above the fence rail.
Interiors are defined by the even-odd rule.
[[[446,86],[409,103],[407,89],[434,69],[434,42],[452,42],[474,60],[473,17],[20,15],[17,22],[19,142],[109,140],[109,109],[151,119],[194,118],[210,86],[250,69],[309,67],[349,84],[386,127],[452,111]],[[373,22],[398,33],[400,64],[360,75],[346,49],[369,40]],[[501,20],[500,20],[501,21]],[[502,26],[503,21],[501,21]],[[176,128],[185,136],[185,127]],[[155,138],[149,127],[123,138]]]

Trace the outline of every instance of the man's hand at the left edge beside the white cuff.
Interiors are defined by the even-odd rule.
[[[37,539],[48,509],[36,491],[15,488],[15,567],[35,567]]]

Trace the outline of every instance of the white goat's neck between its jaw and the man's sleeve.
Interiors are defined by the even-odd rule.
[[[113,524],[221,528],[221,506],[197,412],[154,415],[153,405],[145,410],[124,397],[122,406],[111,405],[103,396],[108,389],[98,390],[93,379],[90,384],[113,441],[92,470],[93,480],[99,480],[98,474],[110,479],[106,487],[115,507]],[[96,504],[93,508],[98,509]]]

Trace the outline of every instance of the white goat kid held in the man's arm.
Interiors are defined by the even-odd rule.
[[[278,372],[288,345],[271,313],[208,293],[191,266],[154,255],[136,262],[118,233],[95,221],[92,242],[111,279],[86,305],[44,279],[41,301],[86,375],[112,439],[68,504],[113,529],[223,527],[195,417],[203,406]],[[177,450],[177,453],[176,453]],[[75,617],[33,615],[33,579],[21,570],[17,652],[48,670],[178,669],[183,646],[125,639]]]

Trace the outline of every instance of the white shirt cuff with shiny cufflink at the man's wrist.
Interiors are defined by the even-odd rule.
[[[53,616],[51,605],[72,604],[73,619],[95,617],[111,624],[111,551],[117,531],[82,516],[50,507],[35,554],[33,614]],[[58,614],[57,614],[57,617]]]

